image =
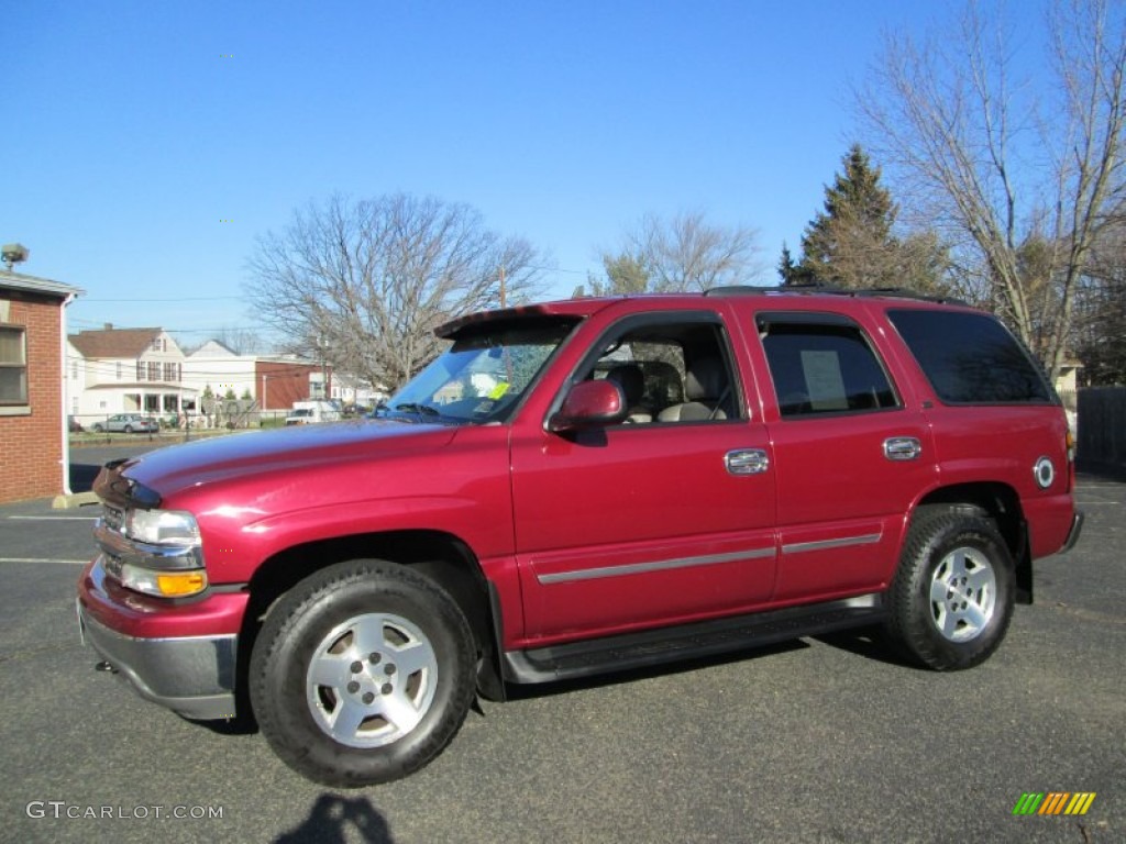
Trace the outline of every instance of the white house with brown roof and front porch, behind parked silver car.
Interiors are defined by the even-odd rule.
[[[171,415],[194,410],[184,352],[163,329],[71,334],[66,343],[68,410],[83,425],[115,413]]]

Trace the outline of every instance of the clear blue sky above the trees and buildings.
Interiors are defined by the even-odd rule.
[[[71,329],[253,327],[254,239],[334,191],[467,203],[546,294],[646,213],[759,230],[765,284],[855,138],[884,30],[947,5],[10,3],[0,240],[81,287]],[[153,302],[152,299],[164,299]]]

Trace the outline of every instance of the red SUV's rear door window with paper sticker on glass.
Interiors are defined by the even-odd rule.
[[[859,327],[760,320],[759,335],[784,419],[899,406]]]

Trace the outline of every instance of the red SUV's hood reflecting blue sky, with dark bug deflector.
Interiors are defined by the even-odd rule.
[[[355,466],[383,457],[434,451],[446,446],[456,432],[448,425],[358,420],[236,433],[169,446],[110,464],[99,475],[95,491],[104,499],[120,500],[118,493],[126,488],[120,484],[124,476],[166,500],[233,479],[280,478],[318,467]],[[145,501],[142,505],[155,503]]]

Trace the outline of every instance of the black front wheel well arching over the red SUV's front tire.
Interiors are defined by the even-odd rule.
[[[493,643],[489,592],[476,556],[459,539],[440,531],[409,530],[361,533],[306,542],[280,551],[254,572],[250,601],[239,631],[236,703],[240,716],[250,712],[247,667],[262,621],[286,592],[314,572],[349,559],[377,558],[411,566],[437,582],[462,608],[473,631],[480,671],[479,685],[489,697],[502,694]],[[501,691],[498,692],[498,689]]]

